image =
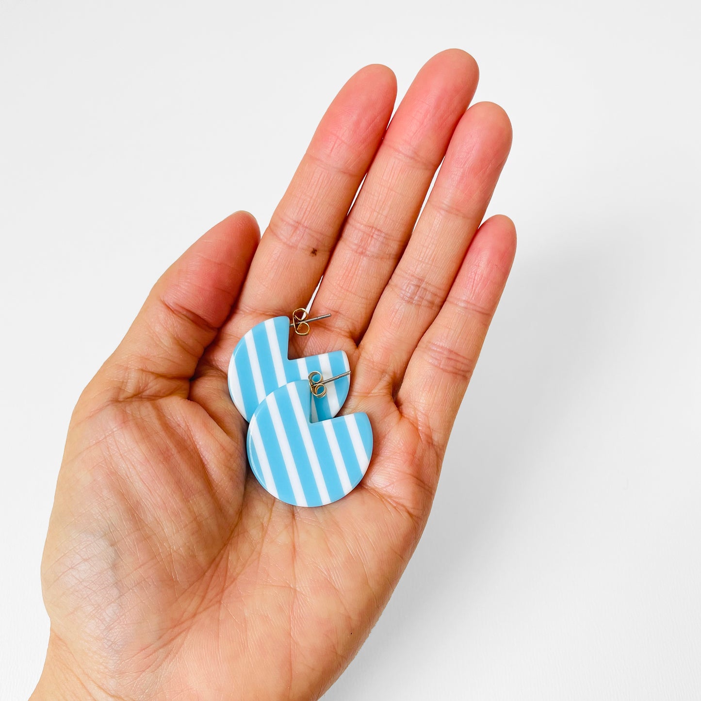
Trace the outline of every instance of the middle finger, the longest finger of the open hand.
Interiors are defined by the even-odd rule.
[[[370,166],[325,271],[315,311],[356,343],[411,236],[435,170],[477,87],[475,60],[451,49],[418,72]]]

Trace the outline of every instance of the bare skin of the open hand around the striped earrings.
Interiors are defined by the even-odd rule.
[[[476,85],[470,55],[440,53],[388,126],[395,77],[362,69],[263,238],[237,212],[158,280],[72,417],[33,698],[315,699],[357,653],[426,524],[515,253],[510,219],[482,223],[511,127],[468,109]],[[348,353],[341,413],[367,412],[374,452],[346,498],[297,508],[248,470],[226,369],[322,274],[313,311],[332,318],[291,355]]]

